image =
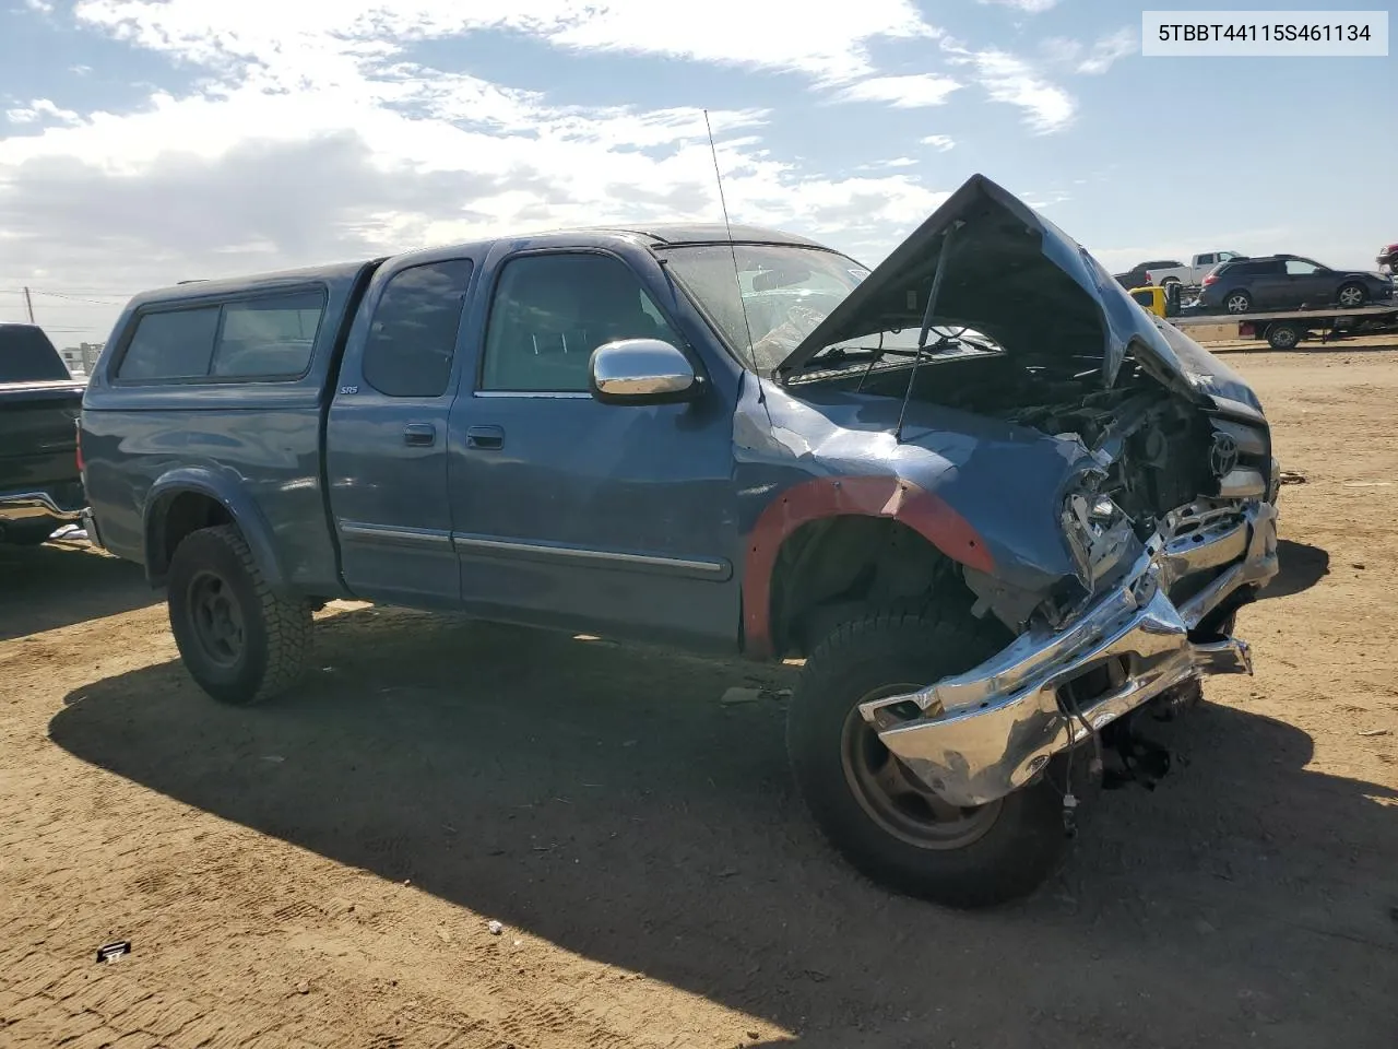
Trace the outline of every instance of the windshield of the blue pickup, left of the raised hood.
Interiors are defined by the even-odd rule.
[[[844,255],[798,245],[677,245],[657,252],[742,364],[751,368],[756,358],[768,375],[870,273]]]

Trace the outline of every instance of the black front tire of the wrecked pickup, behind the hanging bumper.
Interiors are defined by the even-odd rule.
[[[916,780],[857,705],[966,670],[998,646],[967,629],[962,614],[932,610],[846,622],[807,659],[787,711],[797,786],[836,850],[891,890],[949,906],[991,906],[1032,892],[1062,853],[1062,796],[1048,776],[973,810],[955,810],[921,787],[949,813],[934,813],[916,790],[891,810],[861,786],[860,755],[875,748],[892,762],[882,772],[899,789]]]

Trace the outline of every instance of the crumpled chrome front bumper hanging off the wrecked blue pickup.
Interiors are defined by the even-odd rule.
[[[1179,580],[1227,565],[1179,606]],[[1276,511],[1267,502],[1194,504],[1169,515],[1124,582],[1053,632],[1030,629],[973,670],[860,705],[884,744],[956,806],[1028,783],[1058,751],[1202,674],[1251,674],[1247,643],[1191,642],[1229,594],[1276,573]],[[1068,711],[1060,690],[1106,670],[1107,687]]]

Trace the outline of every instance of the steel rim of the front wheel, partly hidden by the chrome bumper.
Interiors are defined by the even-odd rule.
[[[854,704],[840,736],[844,780],[860,808],[886,834],[918,849],[965,849],[995,825],[1002,801],[976,808],[944,801],[893,757],[860,715],[860,704],[918,688],[910,684],[885,685]]]

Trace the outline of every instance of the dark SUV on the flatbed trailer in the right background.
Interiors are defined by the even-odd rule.
[[[1205,311],[1363,306],[1391,299],[1391,277],[1363,270],[1332,270],[1299,255],[1271,255],[1222,263],[1204,278],[1198,304]]]

